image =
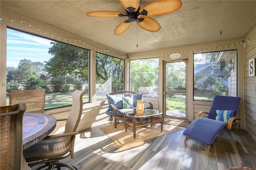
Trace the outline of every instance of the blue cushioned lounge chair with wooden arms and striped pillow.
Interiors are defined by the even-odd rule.
[[[234,121],[239,119],[236,116],[240,100],[241,98],[232,96],[214,96],[209,113],[200,111],[196,119],[184,130],[183,135],[186,136],[184,143],[188,139],[194,139],[204,143],[209,152],[214,139],[225,125],[228,125],[228,129],[234,127],[236,131],[236,123]],[[200,117],[202,113],[207,113],[208,118]],[[230,119],[228,115],[230,115]]]

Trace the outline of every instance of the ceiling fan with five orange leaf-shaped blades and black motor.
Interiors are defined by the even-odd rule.
[[[115,35],[124,33],[134,21],[136,21],[142,29],[150,32],[156,32],[161,29],[161,25],[158,21],[150,17],[170,14],[180,9],[182,6],[182,2],[180,0],[158,0],[147,4],[142,8],[140,8],[140,0],[120,0],[120,3],[126,10],[125,14],[117,11],[92,11],[87,12],[86,15],[92,17],[128,16],[128,20],[126,19],[116,26],[114,30]]]

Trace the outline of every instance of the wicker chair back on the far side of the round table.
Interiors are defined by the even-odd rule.
[[[44,113],[45,89],[39,90],[12,90],[9,104],[26,104],[26,112]]]

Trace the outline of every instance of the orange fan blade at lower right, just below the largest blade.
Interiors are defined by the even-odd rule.
[[[140,17],[140,19],[144,18],[144,20],[142,22],[137,22],[137,24],[142,28],[145,29],[146,31],[150,31],[150,32],[156,32],[159,31],[161,29],[161,25],[160,23],[158,23],[158,21],[154,20],[153,18],[149,18],[149,17]]]

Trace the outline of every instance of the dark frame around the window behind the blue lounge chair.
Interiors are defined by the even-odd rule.
[[[204,53],[218,53],[218,52],[225,52],[225,51],[236,51],[236,97],[238,97],[238,49],[230,49],[230,50],[222,50],[222,51],[211,51],[211,52],[204,52]],[[195,102],[212,102],[212,101],[205,101],[205,100],[194,100],[194,55],[196,54],[204,54],[204,53],[193,53],[193,101]]]

